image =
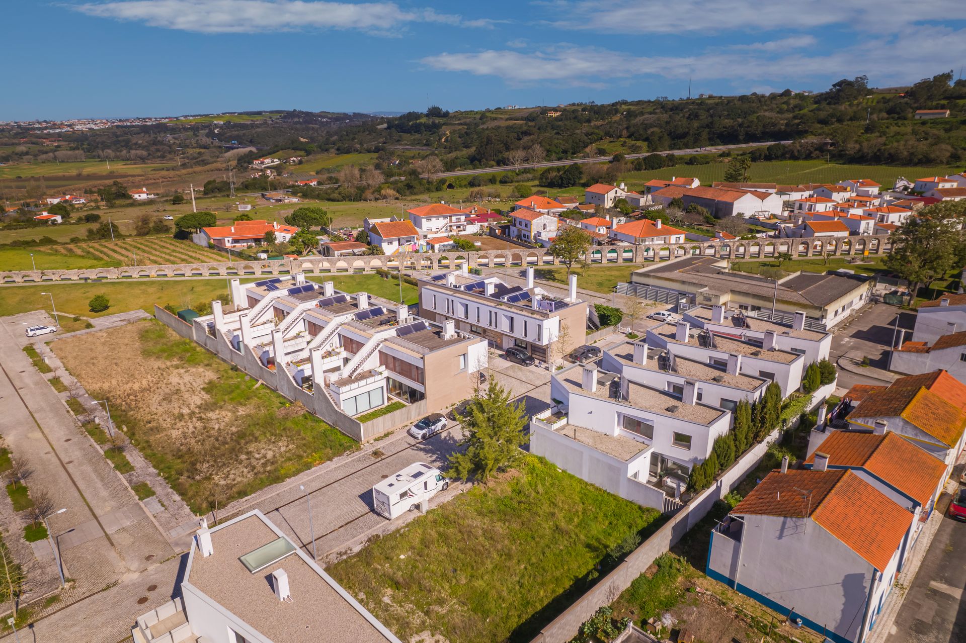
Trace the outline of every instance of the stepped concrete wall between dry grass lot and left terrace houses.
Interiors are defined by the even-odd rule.
[[[313,395],[303,390],[284,370],[275,371],[266,368],[250,349],[246,347],[241,352],[236,350],[223,335],[209,333],[208,327],[203,322],[195,320],[194,323],[186,323],[177,315],[172,315],[157,305],[155,305],[155,318],[185,339],[197,342],[229,364],[234,364],[249,376],[256,380],[261,379],[270,389],[293,402],[300,403],[309,412],[359,442],[389,433],[396,427],[410,424],[426,414],[426,401],[421,400],[362,424],[336,407],[324,392],[321,395]]]

